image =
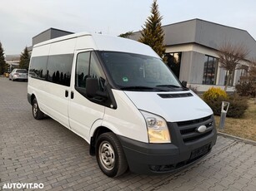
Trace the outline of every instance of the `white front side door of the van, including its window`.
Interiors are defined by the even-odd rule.
[[[105,106],[91,101],[86,96],[88,77],[105,79],[94,51],[78,51],[76,54],[71,99],[68,106],[69,125],[71,130],[90,141],[90,129],[97,120],[102,120]]]

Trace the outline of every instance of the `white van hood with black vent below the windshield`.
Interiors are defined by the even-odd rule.
[[[168,122],[195,120],[213,114],[213,110],[193,91],[124,91],[138,110],[160,115]]]

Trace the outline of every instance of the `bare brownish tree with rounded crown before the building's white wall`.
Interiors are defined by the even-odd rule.
[[[228,77],[224,90],[227,91],[228,83],[232,79],[234,71],[239,69],[239,63],[246,61],[248,49],[243,44],[234,45],[231,42],[223,42],[223,45],[218,48],[218,57],[220,67],[228,71]]]

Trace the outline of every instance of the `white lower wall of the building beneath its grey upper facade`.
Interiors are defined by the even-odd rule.
[[[218,57],[217,51],[208,47],[203,47],[198,44],[183,44],[166,47],[166,52],[182,51],[182,60],[180,67],[180,81],[188,81],[188,86],[196,87],[198,91],[207,91],[213,85],[202,85],[203,81],[203,66],[204,55]],[[246,62],[243,65],[248,65]],[[216,76],[216,85],[224,89],[226,71],[219,66]],[[233,86],[235,86],[240,79],[241,71],[237,70],[234,74]],[[228,87],[227,91],[234,91],[234,87]]]

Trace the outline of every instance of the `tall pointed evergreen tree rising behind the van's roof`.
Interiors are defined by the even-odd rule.
[[[165,48],[163,45],[164,32],[163,28],[161,27],[162,19],[163,17],[160,16],[160,13],[158,11],[157,0],[153,0],[153,4],[151,6],[151,15],[145,22],[143,30],[141,32],[142,37],[140,37],[138,41],[152,47],[153,50],[156,51],[158,55],[163,58]]]

